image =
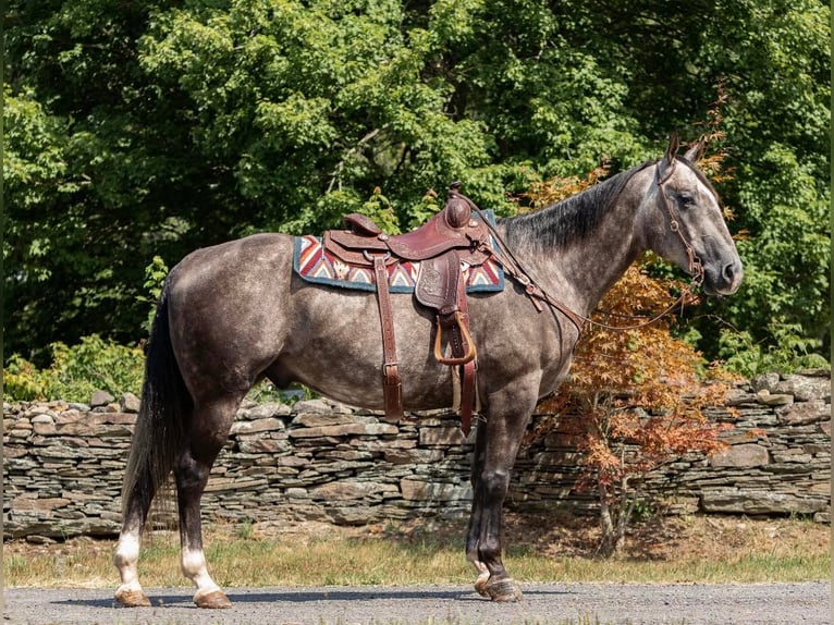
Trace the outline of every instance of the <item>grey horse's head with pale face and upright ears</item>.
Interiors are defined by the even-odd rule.
[[[677,137],[658,162],[653,193],[643,215],[651,221],[650,247],[690,275],[702,278],[708,294],[729,295],[741,283],[741,259],[724,222],[712,185],[695,168],[703,144],[677,156]]]

